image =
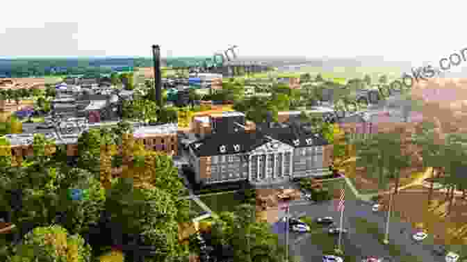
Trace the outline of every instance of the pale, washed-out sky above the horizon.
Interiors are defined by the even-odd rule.
[[[239,56],[383,56],[438,63],[467,47],[466,5],[448,0],[8,1],[0,16],[0,56],[150,56],[151,44],[160,44],[163,56],[211,56],[237,44]]]

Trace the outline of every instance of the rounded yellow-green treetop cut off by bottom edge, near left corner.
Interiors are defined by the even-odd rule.
[[[59,226],[36,227],[24,236],[24,242],[17,247],[12,262],[73,261],[90,262],[91,247],[81,236],[69,235]]]

